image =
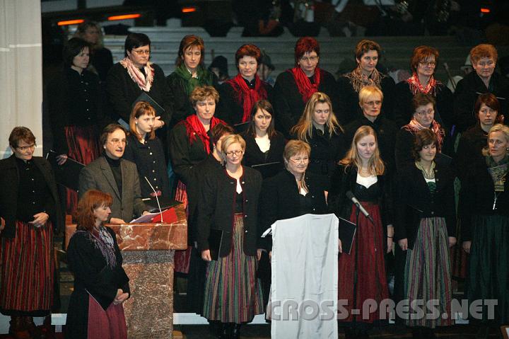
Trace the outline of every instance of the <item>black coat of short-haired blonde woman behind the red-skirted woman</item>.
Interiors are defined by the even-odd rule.
[[[349,125],[345,126],[345,142],[346,145],[348,145],[347,149],[350,148],[353,136],[361,126],[370,126],[375,130],[378,140],[378,149],[380,149],[380,157],[387,166],[386,172],[389,174],[394,173],[396,168],[394,149],[396,148],[396,134],[398,132],[396,124],[383,115],[379,115],[375,122],[371,122],[364,116],[350,122]]]

